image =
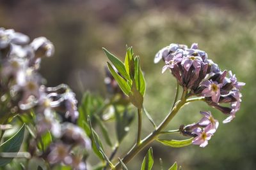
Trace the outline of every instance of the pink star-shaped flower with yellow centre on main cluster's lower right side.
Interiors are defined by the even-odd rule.
[[[202,96],[211,97],[214,103],[218,103],[220,99],[220,89],[222,87],[222,83],[218,83],[217,81],[207,80],[207,81],[203,81],[201,85],[203,87],[206,87],[202,91]]]

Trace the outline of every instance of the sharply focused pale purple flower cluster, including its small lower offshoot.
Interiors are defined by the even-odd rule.
[[[208,59],[206,52],[198,49],[197,43],[193,43],[190,48],[172,43],[159,50],[154,62],[157,63],[161,59],[165,63],[163,72],[170,69],[179,85],[188,91],[188,97],[202,97],[209,106],[228,115],[223,123],[236,117],[241,103],[240,89],[245,83],[237,81],[232,71],[221,71],[218,64]],[[222,103],[230,103],[230,106],[221,106]],[[196,136],[193,144],[204,147],[218,128],[218,121],[214,120],[211,112],[201,113],[204,118],[196,124],[184,127],[182,132]]]

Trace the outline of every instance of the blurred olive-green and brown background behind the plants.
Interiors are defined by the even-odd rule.
[[[170,43],[198,43],[221,69],[232,70],[246,83],[241,110],[232,123],[220,124],[206,148],[169,148],[152,143],[153,169],[160,169],[160,157],[165,169],[175,161],[186,170],[255,169],[255,11],[256,1],[252,0],[0,0],[0,26],[28,34],[31,39],[50,39],[56,53],[42,61],[40,72],[47,86],[70,85],[78,100],[86,90],[106,96],[107,58],[102,46],[123,60],[125,45],[133,46],[147,81],[145,106],[157,124],[170,110],[176,82],[168,71],[161,73],[164,63],[154,64],[154,55]],[[220,122],[225,119],[207,104],[191,105],[182,108],[169,129],[198,121],[200,110],[211,110]],[[134,143],[136,124],[135,120],[119,157]],[[150,131],[145,118],[143,136]],[[140,169],[147,149],[127,165],[129,169]],[[95,157],[89,159],[96,164]]]

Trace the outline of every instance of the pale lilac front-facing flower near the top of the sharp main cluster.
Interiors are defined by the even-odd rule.
[[[202,62],[201,57],[188,55],[182,60],[181,64],[184,66],[184,69],[186,69],[186,71],[189,71],[189,68],[191,66],[194,66],[195,70],[199,72],[201,68],[201,62]]]

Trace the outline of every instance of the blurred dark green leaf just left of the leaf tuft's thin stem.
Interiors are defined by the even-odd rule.
[[[116,118],[116,134],[118,143],[121,143],[124,137],[129,132],[129,125],[134,119],[134,114],[129,114],[127,109],[121,114],[115,108],[115,118]]]

